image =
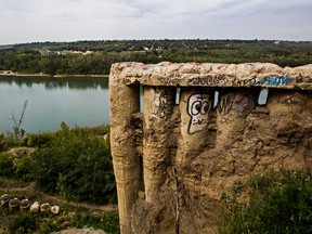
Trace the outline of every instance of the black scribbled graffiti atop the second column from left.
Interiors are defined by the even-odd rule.
[[[156,88],[154,91],[154,105],[151,117],[167,119],[171,114],[171,106],[173,105],[170,89],[164,91]]]

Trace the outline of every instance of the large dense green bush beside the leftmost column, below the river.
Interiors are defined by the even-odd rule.
[[[64,122],[61,128],[32,155],[37,185],[66,199],[116,202],[108,138],[88,134],[86,129],[70,130]]]

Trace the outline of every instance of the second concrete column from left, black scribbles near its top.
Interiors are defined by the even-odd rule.
[[[171,115],[173,113],[176,89],[144,88],[143,115],[143,173],[145,199],[159,199],[159,190],[170,166]]]

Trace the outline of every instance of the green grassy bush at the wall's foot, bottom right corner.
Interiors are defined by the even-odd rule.
[[[283,171],[250,177],[249,204],[229,199],[220,233],[311,233],[311,173]]]

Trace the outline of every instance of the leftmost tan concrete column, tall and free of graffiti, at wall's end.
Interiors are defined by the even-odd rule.
[[[141,184],[141,166],[131,115],[140,112],[140,86],[126,86],[118,70],[109,75],[110,148],[117,184],[121,234],[131,233],[131,209]]]

